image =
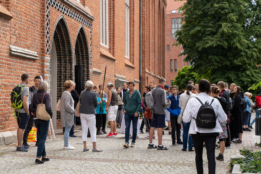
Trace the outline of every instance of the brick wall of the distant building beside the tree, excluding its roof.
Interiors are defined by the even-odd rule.
[[[166,52],[166,80],[169,86],[171,85],[171,81],[177,76],[177,72],[174,72],[174,60],[177,60],[177,71],[182,69],[183,65],[187,66],[187,62],[183,62],[182,56],[179,56],[181,51],[184,50],[182,46],[172,46],[173,43],[176,43],[176,40],[172,38],[171,34],[171,19],[180,17],[181,13],[167,14],[166,17],[166,45],[170,45],[170,51]],[[185,59],[186,56],[183,56],[183,58]],[[173,60],[173,72],[170,72],[170,60]]]

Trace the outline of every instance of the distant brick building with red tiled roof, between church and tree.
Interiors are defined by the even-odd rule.
[[[179,24],[181,22],[181,15],[178,8],[183,5],[186,1],[174,1],[168,0],[167,5],[167,17],[166,17],[166,80],[167,84],[171,85],[174,78],[177,76],[179,69],[187,66],[188,63],[184,62],[186,56],[178,56],[183,52],[181,45],[172,46],[176,43],[174,32],[181,27]]]

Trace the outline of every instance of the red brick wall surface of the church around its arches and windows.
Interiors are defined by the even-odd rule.
[[[62,3],[62,1],[57,0]],[[100,0],[81,0],[91,10],[94,17],[92,22],[92,68],[102,71],[101,75],[93,74],[90,68],[90,79],[98,86],[103,82],[105,65],[107,65],[105,86],[108,82],[115,81],[114,74],[123,75],[126,81],[139,80],[139,10],[138,0],[129,0],[130,20],[130,57],[125,58],[125,0],[109,0],[109,48],[100,44]],[[36,75],[41,75],[51,85],[51,60],[50,54],[46,54],[46,1],[19,1],[0,0],[13,15],[12,20],[0,18],[0,132],[17,129],[16,119],[13,118],[13,109],[10,108],[10,93],[14,86],[21,81],[21,74],[29,74],[28,87],[34,84]],[[65,5],[68,7],[67,5]],[[72,9],[71,7],[68,7]],[[72,9],[74,10],[74,9]],[[78,12],[77,12],[78,13]],[[81,13],[79,13],[81,14]],[[49,6],[49,47],[55,24],[59,16],[63,16],[70,34],[71,50],[74,54],[76,37],[81,23],[62,14],[52,6]],[[159,77],[165,77],[165,0],[142,1],[142,86],[149,82],[158,84]],[[90,28],[83,25],[86,32],[90,51]],[[11,56],[9,45],[18,46],[38,53],[38,60],[29,60]],[[100,48],[111,53],[115,61],[100,56]],[[126,66],[125,60],[132,63],[133,67]],[[72,62],[72,60],[70,60]],[[70,66],[70,65],[69,65]],[[74,68],[68,67],[70,70]],[[147,69],[147,71],[146,71]],[[68,72],[74,78],[74,72]],[[71,73],[71,75],[70,75]],[[74,80],[74,79],[71,79]],[[83,82],[85,84],[85,82]],[[136,83],[136,89],[139,84]],[[107,88],[105,87],[105,92]],[[49,92],[51,93],[51,91]],[[56,101],[52,101],[56,102]],[[60,122],[57,117],[57,127]]]

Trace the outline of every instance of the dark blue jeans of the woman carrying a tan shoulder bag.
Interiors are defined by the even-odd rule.
[[[46,157],[45,141],[46,141],[48,129],[49,129],[49,120],[46,121],[46,120],[41,120],[41,119],[35,119],[34,124],[37,128],[37,132],[39,132],[39,138],[40,138],[39,144],[37,147],[36,158],[41,158],[41,156]]]

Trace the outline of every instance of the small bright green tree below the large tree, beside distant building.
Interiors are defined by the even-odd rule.
[[[191,66],[185,66],[181,70],[178,71],[178,74],[175,80],[172,82],[172,85],[177,85],[179,87],[179,91],[182,89],[186,89],[188,81],[197,82],[197,73],[192,71]]]

